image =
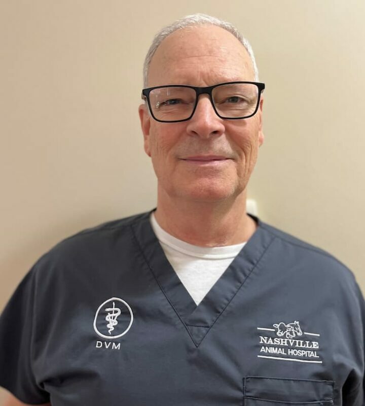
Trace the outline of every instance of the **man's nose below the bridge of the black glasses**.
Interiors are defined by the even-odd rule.
[[[223,119],[216,115],[207,94],[199,95],[193,117],[187,123],[188,134],[195,137],[219,137],[225,131]]]

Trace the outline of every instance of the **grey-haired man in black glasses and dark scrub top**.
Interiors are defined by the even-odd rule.
[[[144,85],[157,209],[34,265],[0,321],[0,383],[56,406],[363,405],[352,273],[246,214],[264,141],[249,44],[186,17],[155,39]]]

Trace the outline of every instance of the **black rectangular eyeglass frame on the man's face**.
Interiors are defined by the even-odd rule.
[[[233,85],[233,84],[236,84],[236,83],[250,83],[250,84],[256,85],[259,88],[259,93],[258,93],[259,95],[258,95],[257,105],[256,105],[253,113],[250,114],[249,116],[245,116],[245,117],[224,117],[224,116],[221,116],[217,112],[217,110],[216,110],[216,108],[214,106],[213,98],[212,98],[212,90],[217,86]],[[163,87],[187,87],[189,89],[194,89],[195,90],[195,106],[193,108],[192,114],[188,118],[184,118],[184,120],[172,120],[172,121],[170,121],[170,120],[159,120],[154,116],[152,108],[151,108],[151,103],[150,103],[150,93],[151,93],[152,90],[161,89]],[[189,86],[189,85],[164,85],[164,86],[155,86],[155,87],[148,87],[148,88],[142,89],[141,96],[142,96],[142,99],[147,98],[147,103],[148,103],[148,106],[149,106],[152,117],[154,118],[154,120],[159,121],[160,123],[177,123],[177,122],[181,122],[181,121],[190,120],[193,117],[194,113],[195,113],[196,107],[198,105],[198,100],[199,100],[199,95],[200,94],[209,94],[210,103],[213,106],[215,114],[218,117],[223,118],[225,120],[242,120],[242,119],[245,119],[245,118],[252,117],[257,113],[257,111],[259,109],[261,93],[264,91],[264,89],[265,89],[265,83],[261,83],[261,82],[244,82],[244,81],[224,82],[224,83],[218,83],[218,84],[213,85],[213,86],[205,86],[205,87]]]

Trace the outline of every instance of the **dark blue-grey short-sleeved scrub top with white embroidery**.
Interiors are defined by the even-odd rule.
[[[330,254],[251,216],[196,306],[151,212],[60,242],[0,318],[0,385],[52,406],[364,404],[364,300]]]

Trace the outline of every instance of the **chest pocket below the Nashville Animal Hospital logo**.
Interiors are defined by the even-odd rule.
[[[245,377],[244,406],[298,406],[334,404],[334,381]]]

